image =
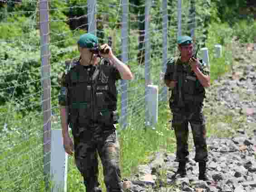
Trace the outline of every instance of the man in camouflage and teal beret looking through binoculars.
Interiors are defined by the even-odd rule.
[[[101,158],[107,192],[122,192],[119,143],[116,135],[116,80],[133,78],[130,69],[104,44],[98,55],[98,39],[91,33],[78,42],[79,61],[72,61],[61,79],[59,105],[63,146],[72,155],[84,178],[87,192],[101,192],[98,182],[98,155]],[[108,50],[108,53],[106,52]],[[106,58],[107,63],[100,62]],[[72,129],[74,145],[68,134]],[[97,155],[98,154],[98,155]]]

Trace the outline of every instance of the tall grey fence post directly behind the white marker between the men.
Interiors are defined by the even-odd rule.
[[[145,122],[149,123],[148,89],[150,81],[150,7],[152,0],[145,1]]]

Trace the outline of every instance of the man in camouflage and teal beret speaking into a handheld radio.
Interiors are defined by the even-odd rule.
[[[195,161],[199,162],[198,178],[208,180],[206,176],[208,160],[206,128],[202,109],[205,88],[210,86],[210,70],[202,59],[193,57],[191,37],[179,36],[178,48],[180,56],[168,61],[164,75],[165,84],[172,90],[169,107],[173,114],[172,127],[177,142],[176,159],[179,162],[174,178],[186,176],[189,122],[196,148]]]

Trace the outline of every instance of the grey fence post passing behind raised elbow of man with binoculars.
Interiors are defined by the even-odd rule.
[[[123,3],[123,15],[122,15],[122,61],[128,62],[128,0],[122,0]],[[126,128],[127,126],[127,80],[121,80],[121,126]]]

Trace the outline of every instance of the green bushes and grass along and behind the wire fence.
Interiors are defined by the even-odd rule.
[[[40,33],[39,13],[36,1],[26,0],[22,3],[0,3],[0,192],[43,192],[43,117],[41,112],[41,64],[40,64]],[[153,84],[159,85],[161,93],[163,84],[160,82],[162,71],[162,17],[161,2],[154,1],[150,15],[150,75]],[[238,17],[239,7],[246,6],[245,0],[198,0],[196,4],[197,23],[196,41],[209,49],[211,78],[216,80],[229,71],[232,65],[232,37],[237,36],[242,43],[255,41],[256,23],[252,17]],[[141,5],[140,0],[130,3]],[[86,0],[53,0],[50,4],[50,63],[52,86],[52,126],[59,128],[58,100],[59,91],[57,78],[63,72],[67,59],[78,56],[76,40],[87,30]],[[106,6],[107,5],[107,6]],[[240,6],[243,5],[243,6]],[[121,54],[121,9],[119,0],[98,0],[97,35],[101,42],[107,37],[113,38],[113,50]],[[184,34],[189,34],[188,7],[189,1],[183,1]],[[174,131],[170,129],[168,120],[171,118],[168,102],[159,102],[159,122],[155,129],[145,126],[145,74],[144,66],[139,65],[142,57],[138,43],[143,28],[143,6],[130,6],[129,23],[129,63],[135,79],[128,83],[128,127],[118,135],[121,147],[121,172],[129,177],[136,171],[138,164],[148,163],[149,155],[155,151],[167,150],[174,152]],[[177,5],[168,4],[168,57],[177,53]],[[104,14],[105,13],[105,14]],[[106,13],[109,13],[106,15]],[[224,14],[225,13],[225,14]],[[226,14],[229,13],[229,14]],[[250,14],[250,13],[248,13]],[[77,17],[78,19],[73,19]],[[142,20],[141,20],[142,19]],[[215,58],[214,45],[221,44],[221,58]],[[120,85],[120,84],[118,84]],[[121,90],[120,90],[121,92]],[[121,95],[119,94],[121,98]],[[121,111],[119,98],[118,110]],[[220,131],[214,129],[217,121],[227,122],[237,128],[239,122],[231,116],[215,117],[208,115],[208,136],[218,136]],[[241,118],[238,121],[243,121]],[[222,130],[221,130],[222,131]],[[221,132],[223,133],[223,132]],[[225,136],[230,134],[225,132]],[[223,136],[223,135],[222,135]],[[164,170],[161,175],[164,175]],[[103,185],[102,169],[100,181]],[[69,157],[68,192],[83,191],[82,177],[75,167],[74,159]]]

